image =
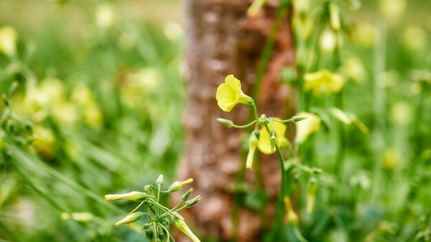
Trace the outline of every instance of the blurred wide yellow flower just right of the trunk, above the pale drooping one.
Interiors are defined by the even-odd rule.
[[[329,72],[327,69],[305,74],[304,81],[304,89],[306,91],[313,89],[315,96],[337,93],[344,87],[343,76]]]

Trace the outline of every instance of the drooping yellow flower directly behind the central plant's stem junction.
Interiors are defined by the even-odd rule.
[[[275,118],[275,119],[281,120],[280,118]],[[304,121],[301,121],[301,122],[304,122]],[[286,125],[281,122],[273,122],[273,124],[274,124],[275,139],[277,141],[277,145],[279,147],[287,146],[288,140],[286,139],[286,137],[284,137],[284,134],[286,133]],[[271,129],[271,124],[269,125],[269,128]],[[268,131],[266,131],[265,127],[262,126],[262,128],[260,128],[260,139],[259,139],[259,142],[257,142],[257,148],[259,148],[259,150],[266,155],[269,155],[275,152],[275,148],[271,149],[270,138],[271,137]]]

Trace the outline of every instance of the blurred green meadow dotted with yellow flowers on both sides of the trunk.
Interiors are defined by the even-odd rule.
[[[0,0],[0,241],[145,241],[138,225],[113,225],[133,203],[103,195],[176,179],[182,5]],[[325,170],[315,212],[299,211],[310,241],[431,241],[430,10],[381,0],[344,12],[344,109],[370,132],[348,127],[340,141],[329,120],[304,148]],[[333,38],[319,36],[320,65]]]

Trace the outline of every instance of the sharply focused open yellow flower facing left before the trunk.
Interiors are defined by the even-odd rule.
[[[242,92],[240,80],[233,75],[227,76],[224,83],[218,86],[215,98],[217,99],[218,107],[225,112],[231,111],[238,103],[253,103],[253,99]]]

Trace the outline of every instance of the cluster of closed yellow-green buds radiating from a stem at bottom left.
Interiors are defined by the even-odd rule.
[[[105,195],[105,200],[131,200],[138,202],[138,206],[129,212],[126,217],[116,222],[115,225],[128,225],[140,219],[146,219],[146,223],[143,225],[142,229],[145,230],[145,236],[151,242],[175,241],[170,232],[171,223],[185,233],[191,241],[200,242],[198,237],[191,232],[184,218],[178,213],[185,208],[191,208],[200,201],[200,195],[189,199],[193,188],[190,188],[182,195],[181,201],[179,201],[174,208],[167,208],[160,204],[160,193],[178,192],[181,190],[182,186],[190,184],[191,182],[193,182],[191,178],[185,181],[175,181],[167,190],[162,190],[163,175],[160,175],[156,181],[156,186],[151,184],[147,185],[144,187],[143,192],[133,191],[125,194]],[[138,211],[144,204],[147,207],[147,211]]]

